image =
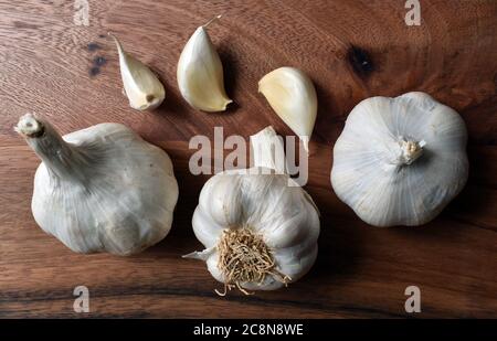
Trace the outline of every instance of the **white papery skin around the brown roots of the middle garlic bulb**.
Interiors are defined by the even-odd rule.
[[[266,145],[268,136],[275,136],[272,127],[251,140]],[[287,174],[268,174],[269,169],[255,161],[255,167],[248,171],[224,171],[204,184],[192,225],[205,251],[186,257],[207,262],[211,275],[220,283],[226,283],[219,267],[220,238],[224,231],[246,227],[262,236],[272,251],[275,269],[294,283],[316,260],[319,213],[305,190],[288,185],[292,180]],[[246,290],[275,290],[283,286],[284,283],[271,275],[262,283],[241,284]]]

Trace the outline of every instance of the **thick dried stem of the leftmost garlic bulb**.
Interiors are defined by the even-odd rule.
[[[83,150],[64,141],[47,121],[32,114],[24,115],[15,131],[25,137],[28,145],[43,160],[49,174],[55,180],[86,181],[85,166],[92,163]]]

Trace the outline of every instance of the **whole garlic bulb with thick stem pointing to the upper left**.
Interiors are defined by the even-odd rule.
[[[34,220],[68,248],[129,255],[169,233],[178,184],[165,151],[118,124],[62,138],[28,114],[15,130],[43,161],[34,177]]]

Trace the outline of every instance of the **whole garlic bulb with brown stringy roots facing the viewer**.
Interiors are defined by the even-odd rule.
[[[274,164],[272,146],[283,142],[272,127],[251,137],[255,158],[248,170],[229,170],[203,187],[193,231],[205,246],[186,257],[207,262],[226,289],[274,290],[296,281],[317,256],[319,214],[311,198]]]

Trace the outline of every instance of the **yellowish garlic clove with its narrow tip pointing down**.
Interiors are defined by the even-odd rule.
[[[258,82],[258,92],[300,138],[308,152],[317,115],[316,89],[309,77],[295,67],[279,67]]]

